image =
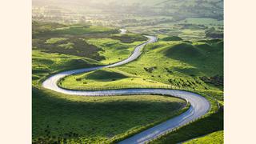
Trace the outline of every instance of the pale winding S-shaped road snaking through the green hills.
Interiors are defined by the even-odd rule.
[[[123,30],[121,30],[123,32]],[[111,95],[133,95],[133,94],[159,94],[159,95],[170,95],[177,98],[186,99],[190,102],[190,109],[186,112],[170,118],[166,122],[162,122],[150,129],[144,130],[139,134],[123,140],[123,144],[135,144],[135,143],[145,143],[153,138],[157,138],[159,135],[164,134],[166,131],[173,130],[179,126],[183,126],[188,122],[191,122],[197,118],[202,117],[210,110],[210,102],[206,98],[199,94],[194,94],[184,90],[166,90],[166,89],[122,89],[122,90],[98,90],[98,91],[87,91],[87,90],[66,90],[62,89],[57,85],[58,80],[69,76],[70,74],[80,74],[93,70],[99,70],[106,67],[122,66],[128,62],[134,61],[142,54],[142,48],[148,43],[154,43],[158,41],[158,38],[154,36],[146,36],[149,38],[147,42],[142,43],[142,45],[136,46],[133,54],[129,58],[121,62],[110,64],[108,66],[97,66],[92,68],[85,68],[79,70],[69,70],[58,74],[54,74],[42,82],[42,86],[49,90],[54,90],[62,94],[72,94],[80,96],[111,96]]]

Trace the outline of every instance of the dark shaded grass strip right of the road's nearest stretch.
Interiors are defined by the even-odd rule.
[[[158,140],[150,143],[154,144],[169,144],[184,142],[191,138],[197,138],[205,134],[213,133],[214,131],[223,130],[223,109],[218,110],[216,114],[210,114],[206,118],[199,119],[190,125],[183,126],[182,128],[167,134],[166,136],[159,138]],[[218,141],[222,141],[222,138],[218,136]],[[202,141],[201,141],[202,142]],[[200,142],[196,142],[200,143]],[[204,143],[204,142],[202,142]],[[210,143],[210,142],[206,142]]]

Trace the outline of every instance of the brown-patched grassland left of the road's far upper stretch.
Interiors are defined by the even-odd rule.
[[[34,22],[33,49],[92,58],[109,64],[128,58],[134,46],[147,40],[141,34],[118,33],[117,29],[102,26]]]

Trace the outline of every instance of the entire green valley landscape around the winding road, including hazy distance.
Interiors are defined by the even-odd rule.
[[[223,143],[222,0],[34,0],[32,17],[34,143],[117,143],[188,110],[190,103],[167,96],[81,97],[42,87],[52,74],[128,58],[145,35],[158,42],[133,62],[73,74],[58,86],[201,94],[211,104],[203,118],[150,143]]]

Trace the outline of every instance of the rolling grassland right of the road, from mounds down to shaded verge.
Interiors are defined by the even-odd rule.
[[[206,98],[216,98],[222,104],[223,40],[186,41],[178,37],[160,35],[159,42],[147,45],[142,56],[134,62],[116,68],[71,75],[58,84],[73,90],[133,87],[190,90]],[[223,107],[218,110],[216,102],[210,102],[212,108],[206,118],[152,143],[182,142],[223,130]]]

